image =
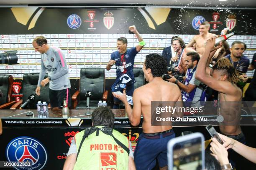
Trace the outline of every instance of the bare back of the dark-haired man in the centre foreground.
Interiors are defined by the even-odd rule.
[[[153,81],[134,91],[133,97],[141,101],[143,133],[157,133],[172,129],[172,126],[151,126],[151,101],[181,101],[179,87],[156,77]]]

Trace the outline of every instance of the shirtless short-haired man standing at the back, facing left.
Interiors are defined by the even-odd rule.
[[[210,33],[209,30],[210,24],[207,21],[203,22],[199,28],[199,35],[195,35],[186,47],[192,47],[196,43],[197,53],[201,57],[205,51],[205,42],[209,38],[216,36],[215,34]]]

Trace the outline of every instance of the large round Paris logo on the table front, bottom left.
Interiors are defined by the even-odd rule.
[[[31,167],[14,167],[16,170],[41,170],[47,161],[47,153],[44,146],[36,139],[21,136],[8,143],[6,147],[6,158],[10,162],[30,162]]]

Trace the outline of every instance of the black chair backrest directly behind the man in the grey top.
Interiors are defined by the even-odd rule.
[[[45,75],[44,78],[48,77],[48,74]],[[22,81],[22,92],[23,92],[23,102],[25,102],[29,95],[36,93],[37,82],[39,79],[39,73],[30,73],[23,75]],[[40,96],[35,95],[34,102],[30,102],[30,109],[36,109],[36,103],[38,101],[49,103],[49,83],[46,84],[45,87],[41,87]]]

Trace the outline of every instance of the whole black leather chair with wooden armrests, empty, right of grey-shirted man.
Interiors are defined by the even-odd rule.
[[[104,68],[81,68],[79,90],[72,96],[74,109],[86,109],[86,92],[90,91],[90,108],[96,108],[99,100],[107,101],[108,91],[105,91]]]

